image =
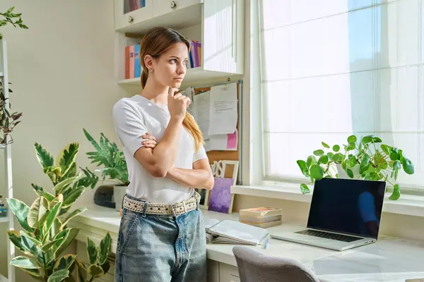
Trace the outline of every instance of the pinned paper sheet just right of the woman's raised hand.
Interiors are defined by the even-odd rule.
[[[211,92],[207,91],[193,97],[193,113],[201,132],[204,134],[204,140],[207,140],[210,117],[210,99]]]

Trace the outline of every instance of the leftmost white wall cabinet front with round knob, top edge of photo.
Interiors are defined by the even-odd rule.
[[[153,0],[115,0],[114,2],[115,30],[153,18]],[[141,3],[145,6],[141,7]],[[131,9],[134,10],[131,11]]]

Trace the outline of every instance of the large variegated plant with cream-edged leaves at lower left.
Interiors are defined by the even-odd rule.
[[[8,238],[24,253],[24,256],[14,257],[11,264],[39,281],[93,281],[110,268],[107,255],[112,240],[109,233],[101,240],[99,247],[88,238],[89,265],[83,264],[76,255],[62,254],[79,231],[78,228],[68,228],[67,224],[73,217],[86,211],[85,207],[72,212],[69,209],[87,187],[97,182],[86,170],[85,176],[77,173],[75,158],[78,148],[78,143],[67,145],[54,161],[52,154],[35,143],[38,161],[52,180],[53,192],[33,184],[37,199],[31,207],[17,199],[7,200],[22,227],[22,231],[8,231]],[[74,276],[73,272],[77,275]]]

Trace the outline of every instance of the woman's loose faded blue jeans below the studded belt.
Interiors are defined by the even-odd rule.
[[[155,215],[123,209],[117,282],[205,282],[206,233],[200,209]]]

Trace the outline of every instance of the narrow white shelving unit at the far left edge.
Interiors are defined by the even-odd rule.
[[[3,87],[3,92],[8,98],[8,71],[7,71],[7,48],[6,42],[0,40],[0,77],[1,85]],[[8,101],[8,100],[7,100]],[[8,104],[6,109],[9,109]],[[5,184],[6,184],[6,193],[4,199],[13,197],[13,182],[12,182],[12,149],[11,145],[0,145],[0,150],[4,152],[4,169],[5,169]],[[8,230],[13,230],[13,214],[8,210],[7,217],[1,217],[0,223],[8,223]],[[8,263],[8,278],[0,276],[0,282],[15,281],[15,268],[11,266],[10,262],[13,257],[15,257],[15,246],[7,239],[7,263]]]

